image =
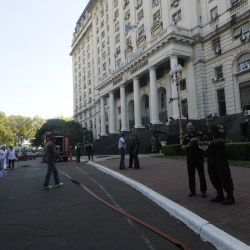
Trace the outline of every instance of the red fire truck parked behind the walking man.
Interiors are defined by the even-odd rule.
[[[70,145],[69,139],[70,136],[64,133],[56,132],[47,132],[44,135],[44,144],[48,142],[48,138],[53,135],[53,142],[56,145],[56,161],[68,161],[70,157]]]

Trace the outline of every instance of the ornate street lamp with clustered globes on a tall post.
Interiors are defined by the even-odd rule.
[[[179,138],[180,144],[183,141],[183,130],[182,130],[182,122],[181,122],[181,102],[180,102],[180,81],[182,78],[182,67],[179,64],[178,66],[175,65],[173,69],[170,70],[169,75],[173,77],[174,84],[177,88],[177,98],[173,98],[173,100],[177,99],[178,101],[178,111],[179,111]]]

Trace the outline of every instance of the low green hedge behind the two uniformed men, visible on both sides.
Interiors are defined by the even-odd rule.
[[[250,142],[226,143],[226,150],[229,160],[250,161]],[[161,151],[166,156],[185,154],[179,144],[163,146]]]

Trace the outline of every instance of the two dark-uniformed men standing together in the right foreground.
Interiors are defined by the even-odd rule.
[[[206,129],[198,133],[193,124],[187,124],[182,149],[186,150],[187,169],[189,177],[189,196],[196,195],[195,172],[200,180],[201,196],[206,197],[207,184],[204,173],[204,154],[207,156],[207,167],[210,181],[217,195],[211,202],[221,202],[223,205],[235,203],[233,195],[234,185],[226,155],[224,130],[214,124],[212,116],[206,117]],[[226,197],[224,192],[226,192]]]

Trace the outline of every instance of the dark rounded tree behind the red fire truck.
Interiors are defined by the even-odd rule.
[[[32,141],[33,146],[43,146],[43,136],[48,131],[70,135],[71,146],[81,143],[84,135],[82,126],[72,119],[49,119],[37,130],[35,139]]]

